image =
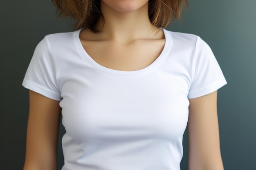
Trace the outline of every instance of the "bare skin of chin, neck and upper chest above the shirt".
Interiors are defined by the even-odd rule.
[[[105,21],[102,31],[80,33],[85,51],[98,64],[134,71],[150,65],[162,52],[164,33],[150,23],[147,0],[104,0],[101,12]]]

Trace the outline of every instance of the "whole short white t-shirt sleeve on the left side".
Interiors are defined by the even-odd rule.
[[[36,46],[22,86],[50,99],[61,100],[56,80],[56,67],[47,37]]]

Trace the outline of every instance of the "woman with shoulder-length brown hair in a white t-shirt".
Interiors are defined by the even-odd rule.
[[[180,170],[189,133],[189,170],[223,170],[217,90],[226,84],[209,46],[164,28],[182,0],[53,0],[78,20],[47,35],[23,86],[29,120],[23,170]]]

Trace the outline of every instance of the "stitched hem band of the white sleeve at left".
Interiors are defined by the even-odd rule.
[[[31,90],[31,91],[39,93],[40,95],[43,95],[43,96],[48,97],[50,99],[53,99],[53,100],[61,101],[61,99],[62,99],[61,96],[58,93],[55,93],[53,91],[49,91],[49,90],[43,88],[42,86],[40,86],[38,84],[35,84],[33,82],[30,82],[29,80],[26,80],[26,79],[23,80],[22,86]]]

